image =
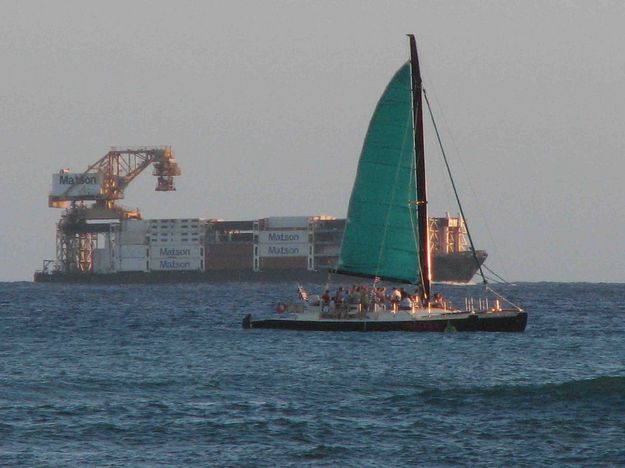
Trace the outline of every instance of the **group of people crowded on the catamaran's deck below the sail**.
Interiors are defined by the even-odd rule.
[[[421,287],[417,287],[414,293],[408,293],[404,288],[387,289],[377,286],[357,286],[351,288],[339,287],[334,294],[326,289],[320,297],[321,306],[326,312],[349,309],[350,305],[358,306],[361,311],[383,309],[397,312],[399,310],[412,310],[414,307],[427,306]],[[441,294],[434,294],[429,302],[431,307],[447,308],[447,302]],[[377,306],[377,307],[376,307]]]

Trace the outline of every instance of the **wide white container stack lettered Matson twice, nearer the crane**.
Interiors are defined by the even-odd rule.
[[[200,218],[150,220],[150,270],[204,271],[204,230]]]

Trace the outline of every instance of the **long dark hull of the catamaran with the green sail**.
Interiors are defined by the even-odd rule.
[[[366,320],[252,320],[243,319],[243,328],[271,328],[302,331],[409,331],[409,332],[522,332],[527,312],[497,312],[463,315],[436,320],[366,321]]]

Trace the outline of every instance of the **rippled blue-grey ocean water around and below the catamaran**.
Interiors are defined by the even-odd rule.
[[[497,289],[525,333],[241,328],[290,283],[0,283],[0,465],[625,465],[625,285]]]

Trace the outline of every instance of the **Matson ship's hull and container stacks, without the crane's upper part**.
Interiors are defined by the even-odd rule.
[[[45,262],[35,281],[325,282],[345,228],[345,219],[331,216],[85,223],[78,214],[70,211],[59,222],[57,258]],[[461,218],[430,218],[430,238],[434,281],[469,282],[478,266]],[[483,262],[486,252],[477,256]]]

